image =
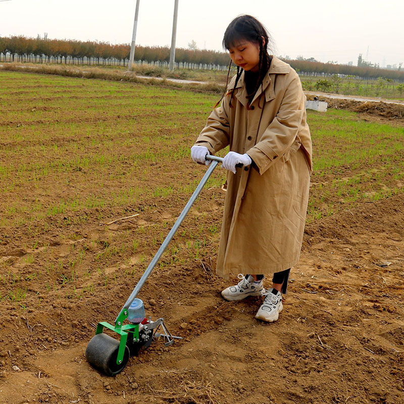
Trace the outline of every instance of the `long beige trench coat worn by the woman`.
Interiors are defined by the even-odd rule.
[[[235,77],[228,88],[234,87]],[[273,57],[263,87],[247,110],[242,73],[208,118],[195,144],[211,154],[230,146],[254,164],[227,172],[216,272],[273,274],[299,259],[312,172],[306,96],[296,72]]]

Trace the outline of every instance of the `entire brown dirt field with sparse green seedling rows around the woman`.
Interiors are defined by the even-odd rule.
[[[38,94],[47,88],[35,95],[28,76],[3,76],[11,90],[0,98],[0,402],[404,402],[402,146],[393,147],[388,161],[377,155],[362,169],[342,164],[314,174],[316,214],[308,216],[301,259],[274,324],[254,319],[259,298],[221,298],[228,283],[214,272],[225,196],[217,168],[139,294],[146,314],[164,317],[184,339],[169,348],[154,342],[110,378],[88,365],[86,345],[98,321],[115,320],[205,172],[187,153],[214,97],[206,103],[203,94],[142,93],[142,104],[158,98],[160,110],[137,111],[124,128],[121,122],[132,115],[122,105],[114,108],[126,95],[112,91],[148,89],[120,83],[107,89],[94,80],[103,93],[95,99],[90,80],[35,78]],[[190,97],[183,110],[175,104],[178,94]],[[58,103],[67,98],[78,104],[64,112]],[[83,104],[90,98],[91,108]],[[99,105],[111,99],[109,109]],[[363,118],[388,122],[369,111],[335,119],[359,125]],[[324,144],[316,140],[322,119],[309,115],[315,150],[335,155],[341,145],[335,134]],[[140,127],[150,120],[159,120],[153,133],[160,143],[139,155],[144,147],[136,136],[144,144]],[[392,121],[392,134],[373,126],[384,132],[372,147],[380,139],[387,139],[383,150],[400,141],[394,133],[402,131],[402,120]],[[130,147],[126,138],[135,139]],[[164,142],[177,154],[149,159],[161,157]],[[138,164],[141,158],[146,163]],[[339,178],[355,181],[344,181],[350,187],[344,190],[333,182]],[[358,178],[367,179],[364,188],[350,192],[362,186]],[[132,193],[121,194],[129,185]]]

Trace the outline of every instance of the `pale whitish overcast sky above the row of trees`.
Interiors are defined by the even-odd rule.
[[[136,0],[0,1],[0,36],[130,43]],[[140,0],[136,44],[170,45],[174,0]],[[358,55],[381,67],[404,62],[404,1],[179,0],[177,47],[193,39],[222,51],[223,33],[239,14],[269,30],[275,55],[357,64]]]

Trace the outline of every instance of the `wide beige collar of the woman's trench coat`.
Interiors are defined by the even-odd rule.
[[[260,88],[257,90],[256,95],[252,99],[251,104],[255,102],[255,100],[262,94],[262,92],[265,92],[265,99],[266,101],[269,101],[273,98],[275,98],[275,91],[274,91],[274,86],[271,84],[273,83],[273,80],[271,79],[271,75],[273,74],[287,74],[290,71],[290,65],[287,63],[281,61],[278,59],[276,56],[272,57],[272,62],[271,66],[269,67],[268,73],[263,79],[263,85],[260,86]],[[234,82],[235,82],[235,77],[233,77],[229,83],[229,89],[232,89],[234,87]],[[236,88],[241,88],[241,90],[237,91],[235,96],[239,100],[239,102],[245,107],[247,105],[247,90],[244,85],[244,72],[241,73],[240,78],[238,79]]]

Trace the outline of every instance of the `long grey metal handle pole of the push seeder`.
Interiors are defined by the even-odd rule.
[[[156,255],[154,256],[153,260],[151,260],[150,264],[148,265],[146,271],[144,272],[144,274],[142,275],[142,277],[139,279],[139,282],[137,282],[137,285],[135,286],[135,288],[133,289],[133,292],[130,294],[130,296],[128,297],[128,299],[126,300],[125,305],[123,306],[123,308],[121,309],[121,313],[125,310],[128,309],[129,306],[131,305],[133,299],[137,296],[137,294],[139,293],[141,287],[144,285],[144,282],[146,281],[146,279],[148,278],[148,276],[150,275],[150,272],[153,270],[153,268],[156,266],[157,262],[159,261],[160,257],[163,255],[163,252],[165,251],[165,249],[167,248],[169,242],[172,240],[172,238],[174,237],[175,232],[178,230],[178,227],[180,227],[182,221],[184,220],[185,216],[187,215],[187,213],[189,212],[189,210],[191,209],[191,206],[193,205],[194,201],[196,200],[196,198],[198,197],[200,191],[202,190],[202,188],[205,186],[205,184],[207,183],[209,177],[211,176],[211,174],[213,173],[213,170],[215,170],[216,166],[218,165],[218,163],[222,162],[223,159],[221,159],[220,157],[215,157],[215,156],[209,156],[207,157],[207,160],[211,160],[212,163],[208,168],[208,171],[205,173],[205,175],[203,176],[203,178],[200,180],[198,186],[196,187],[196,189],[193,191],[192,196],[189,198],[188,203],[185,205],[185,208],[182,210],[180,216],[178,217],[178,219],[176,220],[176,222],[174,223],[174,226],[172,227],[172,229],[170,230],[170,232],[168,233],[167,237],[165,238],[165,240],[163,241],[163,244],[161,245],[161,247],[159,248],[159,250],[157,251]],[[120,314],[121,314],[120,313]],[[120,315],[119,314],[119,315]],[[118,317],[119,317],[118,315]],[[118,320],[117,317],[117,320]],[[117,321],[115,320],[115,322]]]

